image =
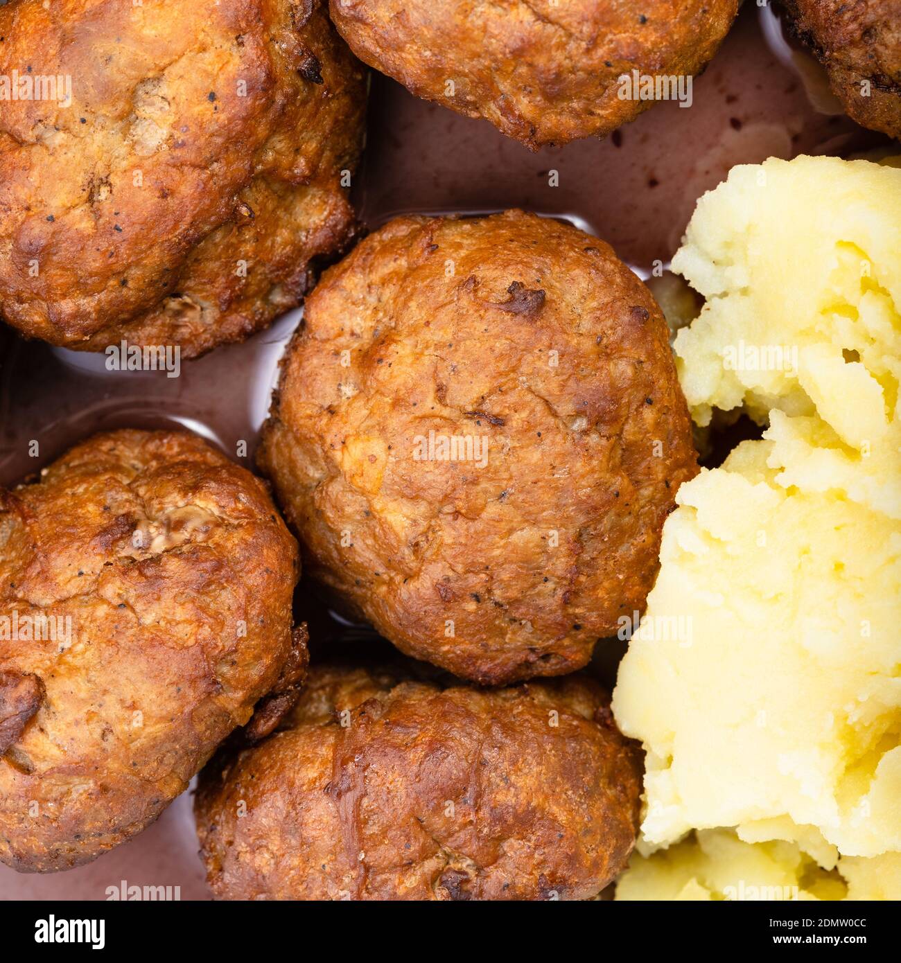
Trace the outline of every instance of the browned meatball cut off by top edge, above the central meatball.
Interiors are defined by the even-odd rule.
[[[360,60],[533,150],[634,120],[652,101],[623,95],[621,78],[677,85],[699,73],[737,9],[737,0],[331,0]]]

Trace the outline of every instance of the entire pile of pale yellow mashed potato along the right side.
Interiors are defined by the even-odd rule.
[[[841,856],[877,892],[901,859],[901,170],[733,169],[674,269],[707,299],[675,344],[694,417],[769,427],[679,489],[614,694],[648,752],[641,851],[735,834],[637,859],[626,892],[718,898],[734,852],[796,883]]]

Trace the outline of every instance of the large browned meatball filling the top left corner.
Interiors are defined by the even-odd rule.
[[[324,0],[22,0],[0,37],[35,94],[0,107],[0,317],[26,335],[192,357],[351,237],[364,78]]]

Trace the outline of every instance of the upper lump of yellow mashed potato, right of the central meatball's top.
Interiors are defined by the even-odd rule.
[[[703,195],[673,259],[706,299],[676,336],[685,397],[817,414],[854,449],[901,377],[901,169],[835,157],[742,165]]]

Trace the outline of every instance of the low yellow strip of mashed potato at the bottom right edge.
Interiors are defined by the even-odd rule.
[[[704,829],[649,858],[636,853],[617,899],[901,899],[901,854],[845,856],[823,870],[793,843],[743,843]]]

